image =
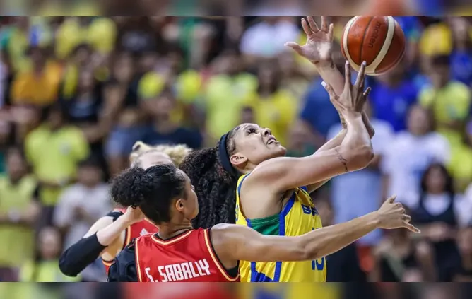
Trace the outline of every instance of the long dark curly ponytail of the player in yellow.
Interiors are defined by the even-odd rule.
[[[193,151],[182,161],[182,169],[195,187],[199,198],[199,215],[193,220],[194,228],[211,228],[218,223],[235,223],[236,185],[239,176],[223,168],[218,149],[225,146],[228,155],[235,153],[235,133],[228,132],[226,144]]]

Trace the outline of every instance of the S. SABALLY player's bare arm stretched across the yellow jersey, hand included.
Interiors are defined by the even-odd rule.
[[[378,211],[352,221],[313,230],[297,237],[261,235],[242,225],[218,224],[211,228],[216,254],[223,263],[234,260],[253,262],[303,261],[319,259],[341,250],[376,228],[407,228],[419,233],[409,223],[411,217],[391,197]]]

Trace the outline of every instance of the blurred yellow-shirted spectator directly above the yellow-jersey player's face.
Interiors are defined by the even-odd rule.
[[[281,88],[281,70],[278,65],[267,62],[259,69],[259,88],[247,100],[252,107],[256,123],[270,128],[273,136],[286,144],[288,130],[297,114],[295,97]]]

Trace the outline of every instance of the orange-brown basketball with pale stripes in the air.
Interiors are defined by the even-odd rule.
[[[393,69],[403,58],[405,48],[405,34],[391,16],[356,16],[343,29],[343,56],[355,71],[365,61],[365,74],[370,76]]]

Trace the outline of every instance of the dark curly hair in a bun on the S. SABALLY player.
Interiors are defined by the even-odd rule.
[[[187,198],[184,175],[166,164],[129,168],[114,178],[110,193],[117,204],[139,207],[156,224],[170,221],[172,199]]]

